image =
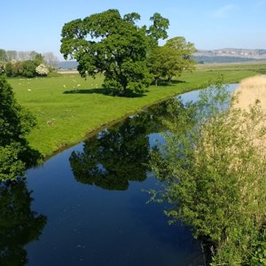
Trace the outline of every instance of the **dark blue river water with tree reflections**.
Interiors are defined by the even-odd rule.
[[[198,92],[184,95],[196,100]],[[188,228],[168,225],[147,166],[166,104],[27,171],[1,192],[0,265],[202,265]]]

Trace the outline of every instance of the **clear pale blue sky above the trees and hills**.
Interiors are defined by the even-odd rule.
[[[59,53],[63,25],[110,8],[154,12],[170,20],[169,37],[184,36],[198,49],[266,49],[266,0],[12,0],[1,3],[0,48]]]

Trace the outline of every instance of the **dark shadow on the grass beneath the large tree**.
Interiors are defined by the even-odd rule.
[[[102,94],[113,97],[125,97],[125,98],[142,98],[146,95],[144,93],[137,93],[132,90],[126,90],[124,94],[119,94],[116,90],[97,88],[97,89],[73,89],[66,90],[64,94]]]

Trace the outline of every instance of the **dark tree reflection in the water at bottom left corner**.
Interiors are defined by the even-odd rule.
[[[32,200],[24,182],[0,187],[0,265],[25,265],[24,246],[42,234],[46,217],[31,210]]]

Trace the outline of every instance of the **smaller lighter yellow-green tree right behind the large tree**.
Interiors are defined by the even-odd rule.
[[[154,48],[150,52],[148,63],[155,84],[160,79],[170,82],[183,71],[194,70],[196,62],[192,56],[195,51],[194,44],[187,43],[184,37],[169,39],[165,45]]]

